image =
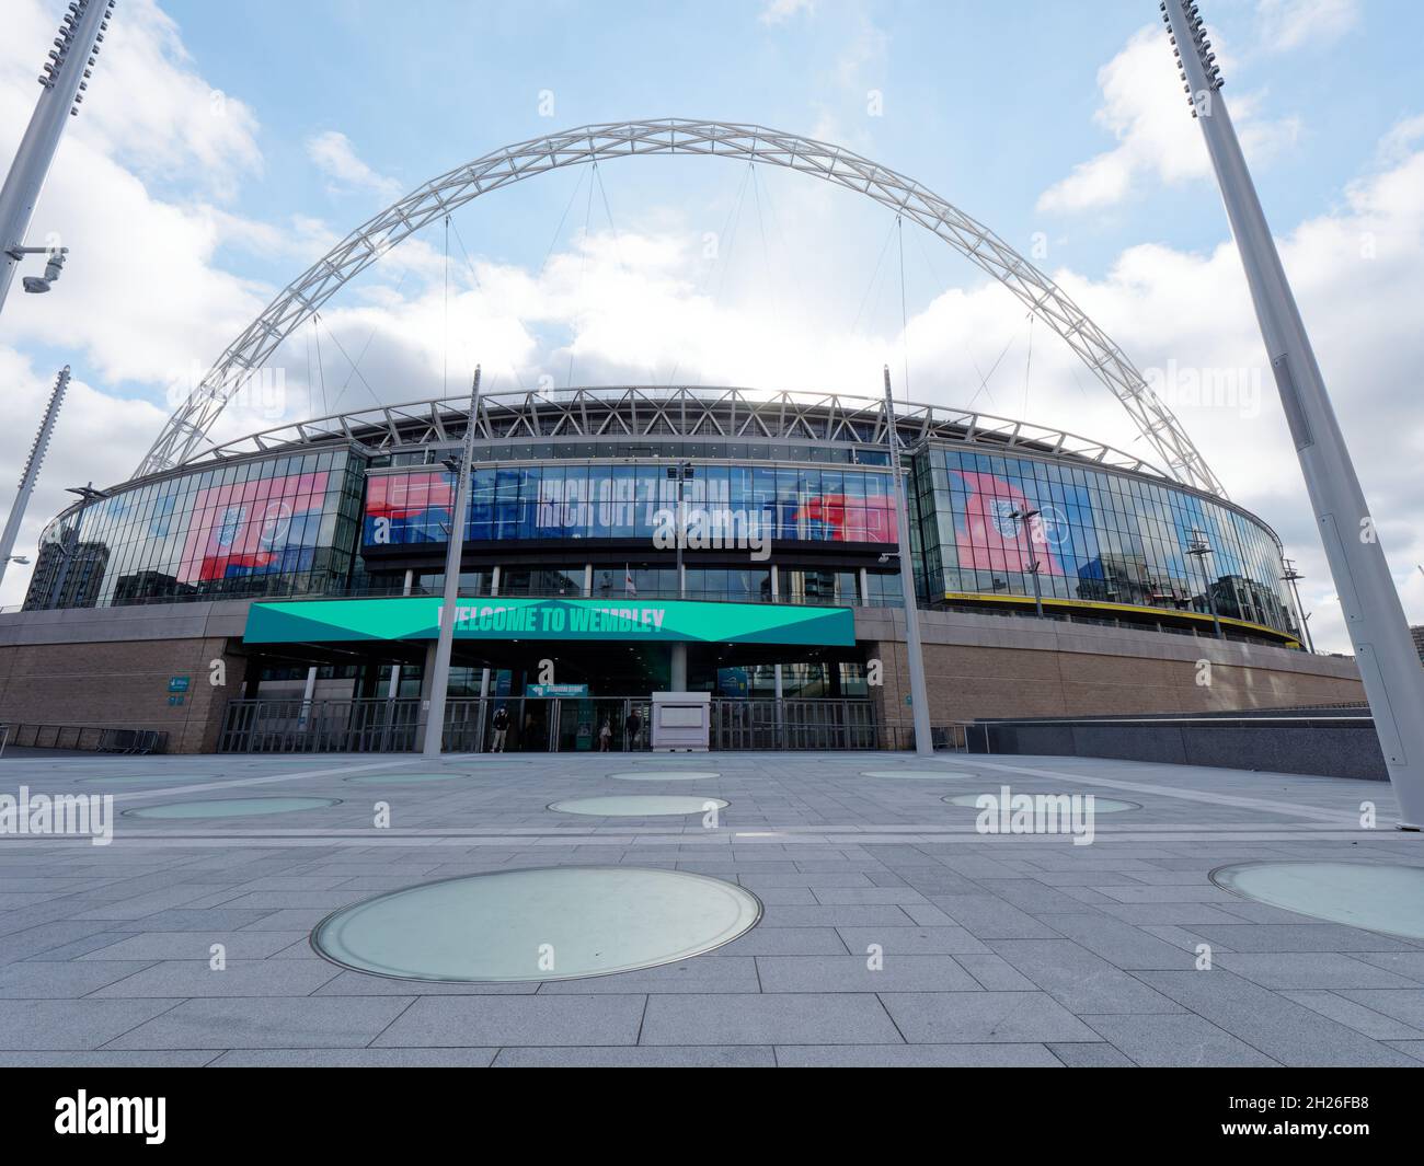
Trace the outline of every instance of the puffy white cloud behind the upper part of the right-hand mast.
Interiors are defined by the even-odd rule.
[[[1220,46],[1213,33],[1212,43]],[[1218,48],[1223,70],[1230,60]],[[1115,206],[1138,192],[1145,181],[1165,185],[1205,178],[1210,161],[1200,130],[1192,120],[1186,93],[1178,77],[1172,46],[1161,26],[1139,30],[1108,64],[1098,70],[1102,105],[1094,121],[1118,144],[1087,162],[1038,198],[1047,212],[1081,212]],[[1289,147],[1300,132],[1294,118],[1266,121],[1257,117],[1259,98],[1237,94],[1232,117],[1242,148],[1252,162],[1266,161]]]

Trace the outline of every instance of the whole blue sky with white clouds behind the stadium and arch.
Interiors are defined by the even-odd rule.
[[[1202,7],[1418,621],[1424,6]],[[36,61],[61,9],[7,0],[0,157],[33,108]],[[1178,366],[1239,372],[1256,397],[1178,413],[1232,497],[1280,531],[1309,577],[1317,638],[1343,648],[1185,101],[1155,0],[120,0],[31,228],[73,243],[66,279],[51,296],[13,296],[0,326],[0,374],[19,386],[0,457],[23,457],[58,363],[74,364],[78,384],[21,542],[68,478],[131,473],[174,386],[402,192],[557,130],[705,117],[817,137],[918,179],[1032,253],[1149,380]],[[1034,333],[1004,289],[913,229],[903,329],[893,216],[867,199],[702,158],[609,162],[598,179],[571,168],[457,212],[449,309],[441,232],[407,242],[273,356],[279,411],[229,410],[216,431],[323,411],[322,380],[326,407],[433,396],[447,366],[459,384],[476,360],[497,387],[562,384],[572,370],[587,383],[864,392],[890,363],[909,366],[914,399],[973,400],[1149,454],[1057,337]],[[366,349],[359,376],[337,345]],[[0,601],[17,601],[21,585],[11,572]]]

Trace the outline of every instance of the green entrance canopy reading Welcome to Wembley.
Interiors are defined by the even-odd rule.
[[[443,601],[298,599],[253,604],[246,644],[353,639],[434,639]],[[689,599],[461,599],[456,639],[659,641],[813,644],[850,648],[850,608],[716,604]]]

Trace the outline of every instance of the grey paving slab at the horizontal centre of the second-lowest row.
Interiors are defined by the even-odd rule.
[[[649,997],[644,1045],[884,1045],[900,1034],[870,994]]]

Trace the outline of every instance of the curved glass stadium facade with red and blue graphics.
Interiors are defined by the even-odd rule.
[[[854,440],[869,436],[476,443],[461,592],[678,595],[674,554],[654,538],[685,466],[686,598],[899,605],[886,451]],[[1032,597],[1037,574],[1049,605],[1108,605],[1129,622],[1143,608],[1215,605],[1274,642],[1296,635],[1279,542],[1236,507],[1051,448],[906,444],[924,605],[994,609]],[[44,531],[26,606],[436,592],[453,446],[347,440],[115,487]],[[719,532],[765,542],[765,558],[719,545]],[[1209,554],[1189,554],[1200,540]]]

